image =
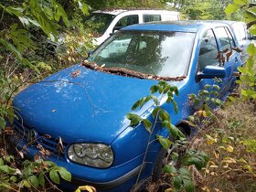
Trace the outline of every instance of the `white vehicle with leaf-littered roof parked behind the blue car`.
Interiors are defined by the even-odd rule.
[[[89,27],[93,27],[97,34],[94,34],[95,44],[100,45],[117,30],[133,24],[141,24],[154,21],[179,20],[179,13],[167,10],[99,10],[92,12],[86,21]]]

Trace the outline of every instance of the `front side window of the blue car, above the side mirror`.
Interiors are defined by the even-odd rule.
[[[218,65],[218,45],[212,29],[209,29],[200,41],[198,56],[198,70],[203,70],[208,65]]]

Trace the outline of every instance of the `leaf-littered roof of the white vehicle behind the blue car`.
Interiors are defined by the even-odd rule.
[[[168,10],[162,10],[162,9],[146,9],[146,8],[129,8],[129,9],[113,9],[113,8],[109,8],[109,9],[103,9],[103,10],[97,10],[97,11],[93,11],[92,13],[99,13],[99,14],[110,14],[110,15],[114,15],[117,16],[123,12],[144,12],[144,13],[172,13],[174,15],[178,15],[179,13],[176,11],[168,11]]]

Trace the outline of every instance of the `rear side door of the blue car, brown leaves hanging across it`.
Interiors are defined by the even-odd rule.
[[[226,77],[222,79],[222,89],[219,92],[219,97],[225,98],[234,86],[236,77],[233,73],[240,62],[240,53],[233,50],[236,45],[228,27],[216,27],[214,33],[219,42],[220,66],[226,69]]]

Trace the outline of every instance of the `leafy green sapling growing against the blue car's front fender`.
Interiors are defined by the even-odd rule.
[[[216,95],[216,91],[219,91],[218,85],[208,85],[207,88],[211,90],[199,91],[198,96],[195,95],[194,99],[202,100],[202,98],[210,97],[213,94]],[[131,126],[138,125],[139,123],[144,123],[144,121],[146,121],[146,123],[144,123],[144,127],[150,134],[144,155],[144,161],[148,147],[151,144],[151,137],[152,133],[154,132],[156,123],[161,123],[162,128],[167,129],[170,133],[170,137],[172,138],[171,142],[169,138],[165,138],[162,135],[156,135],[155,139],[158,140],[158,142],[163,146],[163,148],[165,148],[165,150],[170,149],[172,144],[176,147],[185,147],[187,144],[187,139],[185,138],[185,135],[181,133],[174,124],[171,123],[170,114],[166,112],[165,109],[163,109],[160,105],[162,100],[166,101],[168,104],[172,102],[174,113],[176,113],[177,105],[176,101],[174,100],[174,95],[178,95],[177,88],[165,81],[159,81],[156,85],[150,88],[150,92],[151,95],[148,95],[136,101],[133,104],[132,110],[140,110],[144,107],[145,103],[150,103],[151,105],[155,106],[152,112],[152,118],[154,122],[151,123],[148,119],[143,119],[140,115],[135,113],[128,113],[126,115],[127,119],[131,120]],[[177,160],[179,160],[180,162],[178,164],[181,166],[177,169],[174,165],[165,165],[163,168],[163,171],[165,173],[168,173],[172,176],[171,183],[173,187],[176,189],[176,191],[194,191],[195,187],[192,181],[190,171],[188,170],[188,166],[195,165],[198,170],[203,168],[208,163],[208,155],[203,152],[197,152],[195,150],[187,149],[185,155],[183,155],[182,157],[179,157],[179,155],[175,152],[173,152],[171,156],[173,161],[176,162]],[[137,177],[137,182],[138,178],[139,176]]]

